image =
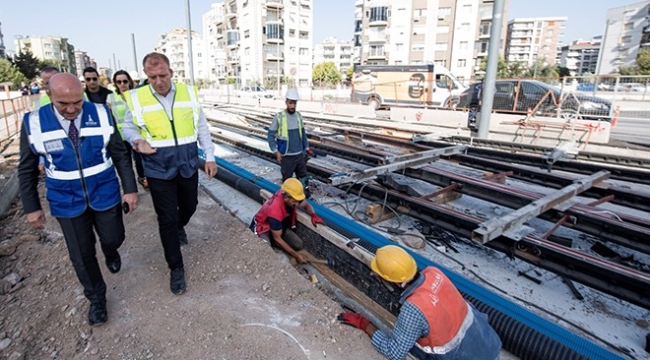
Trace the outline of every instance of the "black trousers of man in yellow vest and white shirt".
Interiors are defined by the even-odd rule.
[[[178,230],[190,222],[199,203],[199,173],[189,178],[176,175],[170,180],[147,178],[153,207],[158,215],[158,232],[169,269],[183,267]]]

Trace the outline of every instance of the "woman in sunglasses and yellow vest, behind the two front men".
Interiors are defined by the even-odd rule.
[[[124,70],[118,70],[113,74],[113,84],[115,85],[115,91],[112,94],[109,94],[107,105],[111,108],[113,117],[117,123],[117,129],[120,131],[120,135],[122,135],[124,115],[126,114],[127,109],[126,100],[124,100],[124,93],[133,89],[135,84],[133,79],[131,79],[131,75]],[[122,135],[122,140],[124,140],[124,135]],[[135,159],[135,170],[138,173],[138,182],[142,187],[148,189],[149,183],[147,182],[147,178],[144,176],[144,168],[142,167],[142,158],[140,157],[140,154],[131,151],[131,144],[127,141],[124,141],[124,146],[126,146],[129,153],[133,154],[133,158]]]

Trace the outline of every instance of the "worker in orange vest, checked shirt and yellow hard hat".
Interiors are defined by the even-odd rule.
[[[370,267],[404,289],[393,331],[378,330],[352,312],[338,319],[365,331],[381,354],[389,359],[404,359],[409,352],[419,359],[498,359],[501,340],[487,315],[467,303],[442,271],[429,266],[418,273],[415,259],[395,245],[377,250]]]

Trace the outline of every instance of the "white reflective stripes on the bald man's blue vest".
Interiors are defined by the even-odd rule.
[[[106,108],[104,107],[104,105],[101,104],[94,104],[94,105],[97,108],[99,127],[81,126],[81,129],[79,130],[79,138],[81,139],[83,137],[101,136],[103,138],[104,144],[108,144],[111,135],[113,134],[114,131],[113,126],[109,121],[108,113],[106,112]],[[82,116],[89,116],[89,115],[82,115]],[[29,142],[32,144],[36,152],[45,155],[46,158],[48,159],[48,163],[51,166],[46,167],[45,171],[49,178],[56,179],[56,180],[77,180],[77,179],[81,179],[81,176],[89,177],[89,176],[97,175],[102,171],[109,169],[110,167],[113,166],[113,160],[109,156],[107,156],[106,148],[104,148],[102,149],[103,162],[101,164],[97,164],[88,168],[83,168],[81,172],[79,170],[73,170],[73,171],[56,170],[56,168],[52,166],[53,165],[52,156],[49,154],[48,151],[46,151],[47,149],[45,144],[52,141],[68,141],[69,140],[68,134],[63,129],[42,132],[41,124],[40,124],[40,115],[38,111],[31,112],[29,117],[30,117]]]

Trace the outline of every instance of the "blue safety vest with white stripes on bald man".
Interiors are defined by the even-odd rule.
[[[120,184],[107,149],[115,131],[108,108],[83,103],[79,147],[75,148],[51,106],[25,115],[32,151],[45,158],[45,187],[52,216],[70,218],[88,207],[108,210],[121,200]]]

